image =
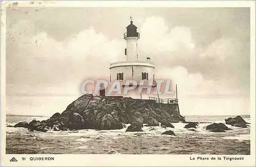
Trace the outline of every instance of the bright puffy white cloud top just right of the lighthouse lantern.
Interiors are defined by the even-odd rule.
[[[162,17],[147,18],[140,30],[140,47],[146,54],[159,55],[164,52],[195,47],[188,27],[180,26],[169,30]]]

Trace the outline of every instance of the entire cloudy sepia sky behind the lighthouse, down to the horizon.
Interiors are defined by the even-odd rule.
[[[7,8],[7,113],[62,112],[84,80],[109,79],[130,16],[139,59],[178,85],[181,114],[250,113],[250,9],[149,7]]]

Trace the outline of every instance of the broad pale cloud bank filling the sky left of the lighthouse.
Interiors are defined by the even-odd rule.
[[[7,54],[7,73],[10,74],[7,83],[11,88],[13,84],[19,85],[15,93],[25,91],[40,94],[48,91],[52,94],[61,87],[69,87],[67,91],[77,92],[79,84],[85,79],[108,79],[110,63],[122,58],[120,55],[125,43],[96,33],[93,28],[56,41],[46,32],[17,33],[17,30],[26,29],[27,25],[30,23],[20,20],[13,25],[9,35],[14,39],[9,42],[15,45],[16,50]],[[20,29],[16,29],[17,26]],[[53,91],[53,88],[56,90]]]

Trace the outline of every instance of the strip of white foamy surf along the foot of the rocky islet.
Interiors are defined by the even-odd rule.
[[[190,137],[193,136],[198,136],[200,135],[217,135],[221,134],[222,136],[227,136],[227,137],[232,137],[234,135],[239,135],[239,134],[248,134],[250,133],[250,128],[240,128],[240,127],[233,127],[231,125],[226,125],[228,128],[231,128],[231,130],[226,131],[225,133],[216,133],[216,132],[210,132],[205,129],[206,126],[210,125],[210,123],[200,123],[198,124],[197,128],[195,131],[191,131],[189,129],[184,128],[186,123],[173,123],[175,128],[162,128],[162,127],[154,127],[154,130],[150,129],[152,127],[143,127],[142,132],[126,132],[126,128],[123,129],[116,129],[116,130],[95,130],[95,129],[83,129],[83,130],[76,130],[76,131],[53,131],[49,130],[47,132],[29,132],[28,129],[26,128],[13,128],[13,127],[7,127],[6,130],[8,133],[22,133],[24,135],[28,134],[38,134],[40,137],[47,137],[47,136],[52,136],[52,137],[57,137],[57,136],[81,136],[82,138],[78,139],[82,141],[87,141],[87,138],[83,138],[84,136],[87,136],[90,138],[91,137],[104,137],[104,136],[110,136],[113,138],[119,138],[122,136],[142,136],[144,138],[148,137],[158,137],[162,136],[161,134],[165,131],[172,130],[174,131],[175,134],[177,134],[179,137],[185,137],[189,135]],[[126,124],[126,127],[130,126],[130,124]],[[191,128],[190,128],[191,129]],[[172,137],[172,136],[170,136]],[[211,138],[214,139],[214,138]]]

